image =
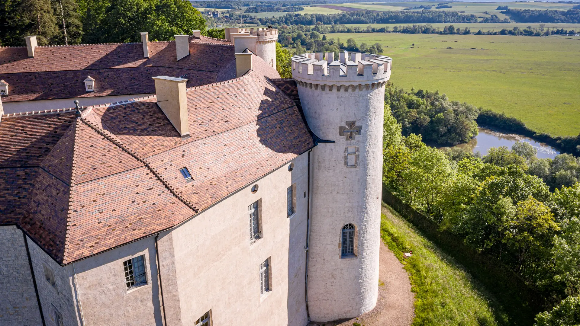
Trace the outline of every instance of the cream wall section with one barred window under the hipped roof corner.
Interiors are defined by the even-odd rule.
[[[127,290],[123,262],[145,256],[147,284]],[[162,325],[154,237],[74,263],[85,326]]]

